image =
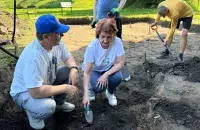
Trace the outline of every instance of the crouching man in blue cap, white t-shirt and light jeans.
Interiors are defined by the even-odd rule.
[[[75,96],[78,68],[61,37],[69,31],[53,15],[42,15],[35,23],[36,39],[20,55],[14,72],[10,95],[26,111],[34,129],[45,127],[44,119],[55,110],[70,112],[75,105],[65,102]],[[62,61],[65,66],[57,68]]]

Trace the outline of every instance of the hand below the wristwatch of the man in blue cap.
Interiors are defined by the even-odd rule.
[[[78,70],[75,68],[72,68],[69,73],[69,84],[76,86],[78,84],[78,80],[79,80],[78,76],[79,76]]]

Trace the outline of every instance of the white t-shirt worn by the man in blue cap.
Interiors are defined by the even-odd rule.
[[[25,92],[28,88],[51,84],[55,80],[54,63],[64,62],[70,56],[62,41],[51,51],[47,51],[35,39],[23,50],[18,59],[11,84],[11,96]]]

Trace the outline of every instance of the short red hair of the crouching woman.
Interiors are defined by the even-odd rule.
[[[116,21],[114,18],[103,18],[96,26],[96,38],[99,37],[101,32],[111,33],[116,35],[117,33]]]

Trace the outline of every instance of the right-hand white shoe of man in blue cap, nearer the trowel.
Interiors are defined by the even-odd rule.
[[[56,111],[71,112],[75,109],[75,105],[65,102],[62,105],[56,105]]]

